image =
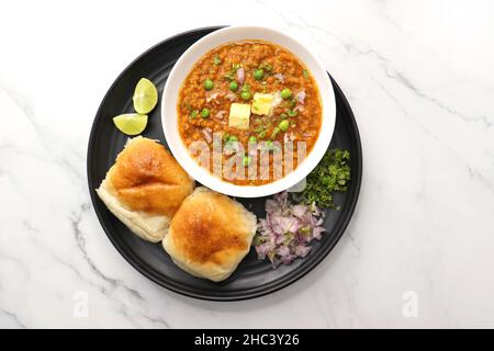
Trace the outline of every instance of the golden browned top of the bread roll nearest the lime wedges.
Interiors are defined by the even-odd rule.
[[[110,182],[128,208],[166,216],[193,190],[193,180],[165,147],[143,137],[131,139],[119,154]]]

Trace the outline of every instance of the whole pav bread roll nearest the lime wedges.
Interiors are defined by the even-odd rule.
[[[158,242],[193,186],[162,145],[138,136],[127,141],[97,193],[133,233]]]

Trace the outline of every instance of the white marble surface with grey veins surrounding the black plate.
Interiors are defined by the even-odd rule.
[[[492,1],[166,2],[1,2],[1,327],[494,327]],[[108,240],[86,180],[113,79],[155,43],[214,24],[269,24],[315,45],[364,152],[332,254],[239,303],[146,280]],[[403,314],[407,291],[416,317]]]

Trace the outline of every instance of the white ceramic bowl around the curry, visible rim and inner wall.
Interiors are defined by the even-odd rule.
[[[261,39],[281,45],[292,52],[308,68],[315,79],[323,105],[319,136],[307,157],[283,178],[265,185],[235,185],[212,173],[197,162],[178,132],[177,102],[179,89],[193,65],[211,49],[229,42]],[[287,190],[302,181],[321,161],[333,137],[336,121],[335,94],[332,82],[321,60],[300,41],[279,31],[260,26],[229,26],[215,31],[189,47],[168,77],[161,97],[161,124],[168,146],[178,162],[197,181],[205,186],[232,196],[260,197]]]

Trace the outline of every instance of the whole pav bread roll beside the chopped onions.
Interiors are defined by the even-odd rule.
[[[175,214],[162,246],[186,272],[220,282],[249,252],[256,223],[238,202],[200,186]]]

